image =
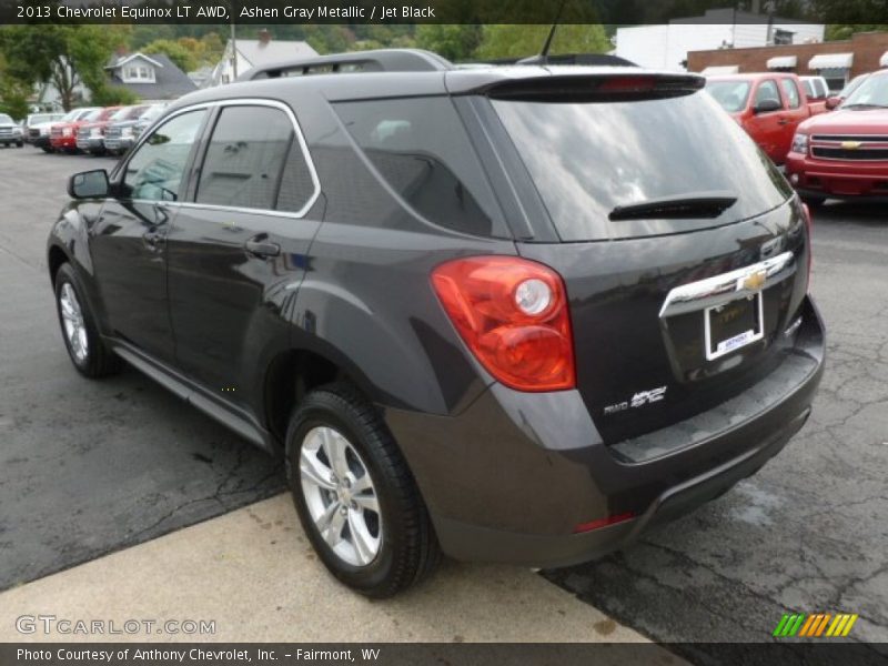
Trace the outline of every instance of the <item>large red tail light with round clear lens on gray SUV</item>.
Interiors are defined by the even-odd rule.
[[[437,266],[432,285],[497,381],[533,392],[576,385],[567,293],[555,271],[516,256],[473,256]]]

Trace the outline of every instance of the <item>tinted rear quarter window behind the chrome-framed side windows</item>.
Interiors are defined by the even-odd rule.
[[[486,175],[448,98],[347,102],[336,112],[383,179],[423,218],[466,233],[504,235]]]

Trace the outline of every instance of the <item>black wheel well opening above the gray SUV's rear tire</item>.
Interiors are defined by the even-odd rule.
[[[292,351],[278,356],[265,375],[265,418],[279,442],[286,436],[293,407],[317,386],[346,379],[345,373],[324,356]]]

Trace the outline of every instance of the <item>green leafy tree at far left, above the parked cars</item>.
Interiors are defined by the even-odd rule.
[[[68,110],[79,84],[93,93],[108,85],[104,67],[124,37],[108,26],[7,26],[0,29],[0,52],[9,77],[28,85],[51,83]]]

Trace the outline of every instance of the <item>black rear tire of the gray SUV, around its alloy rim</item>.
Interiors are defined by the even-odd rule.
[[[300,455],[306,435],[321,426],[347,440],[365,465],[379,500],[379,552],[363,566],[350,564],[327,545],[306,503]],[[290,420],[286,452],[290,490],[302,526],[321,561],[340,582],[367,597],[384,598],[435,569],[441,548],[413,475],[377,411],[351,384],[329,384],[305,396]]]

